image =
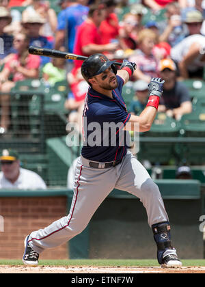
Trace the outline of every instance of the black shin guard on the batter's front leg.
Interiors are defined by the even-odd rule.
[[[162,264],[164,252],[167,249],[174,249],[172,247],[169,221],[153,224],[152,231],[157,246],[157,260],[159,264]]]

